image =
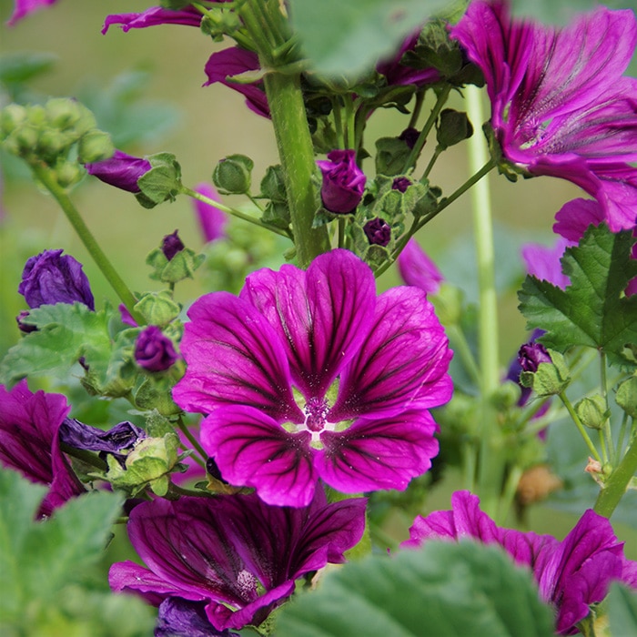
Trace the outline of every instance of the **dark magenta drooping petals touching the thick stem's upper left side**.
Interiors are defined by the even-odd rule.
[[[251,82],[250,84],[238,84],[229,81],[228,78],[239,76],[247,71],[260,69],[258,55],[253,51],[248,51],[238,46],[231,46],[217,51],[209,57],[206,63],[207,82],[204,86],[209,86],[218,82],[228,88],[238,91],[246,96],[248,108],[258,115],[269,117],[268,97],[263,88],[263,80]]]

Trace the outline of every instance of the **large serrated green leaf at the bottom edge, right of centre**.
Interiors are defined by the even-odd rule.
[[[333,571],[285,606],[278,637],[531,637],[553,634],[531,574],[499,548],[428,542]]]

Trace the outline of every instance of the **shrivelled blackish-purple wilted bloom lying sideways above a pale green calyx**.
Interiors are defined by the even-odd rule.
[[[69,447],[86,451],[98,451],[99,457],[106,459],[110,453],[124,465],[126,454],[138,440],[146,438],[146,431],[125,420],[110,430],[85,425],[75,418],[66,418],[59,429],[59,438]]]

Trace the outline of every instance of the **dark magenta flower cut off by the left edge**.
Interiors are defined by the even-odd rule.
[[[26,380],[10,390],[0,385],[0,463],[49,486],[40,515],[85,491],[60,450],[58,430],[70,409],[65,396],[34,394]]]

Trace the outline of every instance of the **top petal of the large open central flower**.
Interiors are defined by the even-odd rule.
[[[324,395],[367,339],[376,288],[369,266],[337,249],[314,259],[307,272],[294,266],[255,272],[241,298],[277,330],[292,378],[309,398]]]

